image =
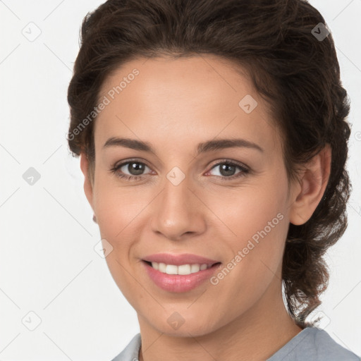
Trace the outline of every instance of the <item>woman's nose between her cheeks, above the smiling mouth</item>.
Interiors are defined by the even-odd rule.
[[[178,185],[166,178],[164,189],[154,202],[152,231],[169,240],[198,235],[206,228],[204,208],[187,177]]]

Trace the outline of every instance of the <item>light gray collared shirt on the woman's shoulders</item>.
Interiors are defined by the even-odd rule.
[[[140,334],[136,334],[126,348],[112,361],[138,361]],[[360,361],[361,357],[343,348],[326,331],[306,327],[267,361]]]

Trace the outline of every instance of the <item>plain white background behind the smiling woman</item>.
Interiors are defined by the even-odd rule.
[[[80,24],[103,2],[0,1],[3,361],[111,360],[139,331],[135,311],[94,251],[99,230],[82,190],[79,160],[66,143],[66,92]],[[334,36],[353,124],[349,226],[327,255],[331,279],[319,326],[361,355],[361,0],[310,3]],[[23,35],[29,27],[32,36],[41,31],[32,42]],[[41,176],[34,185],[23,179],[30,167]],[[30,331],[25,325],[36,326],[37,317],[41,323]]]

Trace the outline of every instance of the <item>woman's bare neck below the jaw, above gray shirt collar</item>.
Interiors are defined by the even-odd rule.
[[[277,295],[274,302],[264,297],[232,322],[197,337],[164,334],[138,314],[143,345],[139,360],[267,360],[302,331],[286,311],[281,292],[267,292]]]

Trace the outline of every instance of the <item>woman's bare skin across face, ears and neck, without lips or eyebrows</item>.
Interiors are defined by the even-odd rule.
[[[324,194],[331,150],[317,154],[287,192],[279,130],[267,103],[231,63],[215,56],[133,59],[106,79],[100,94],[134,68],[140,74],[95,121],[94,179],[85,154],[80,166],[102,238],[113,247],[109,270],[137,312],[140,360],[266,360],[302,330],[283,305],[283,250],[289,223],[310,219]],[[250,114],[238,106],[246,94],[258,103]],[[103,147],[110,137],[149,142],[156,154]],[[195,157],[198,143],[232,137],[264,152],[233,147]],[[111,173],[134,158],[146,165],[140,180]],[[235,168],[221,180],[225,159],[250,172],[235,178],[242,172]],[[185,176],[178,185],[166,178],[174,166]],[[122,170],[136,174],[128,164]],[[170,293],[143,270],[142,257],[158,252],[194,253],[226,266],[277,214],[282,221],[217,285]],[[178,329],[167,322],[173,312],[184,319]]]

